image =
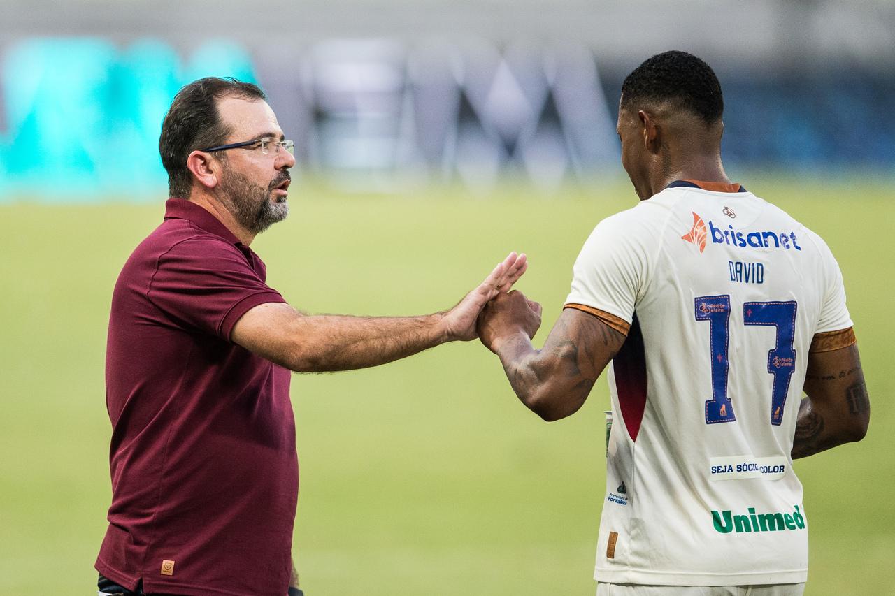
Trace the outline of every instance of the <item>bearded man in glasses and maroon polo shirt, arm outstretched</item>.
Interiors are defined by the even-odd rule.
[[[311,316],[265,283],[249,245],[288,213],[292,141],[256,86],[177,94],[159,152],[171,199],[112,297],[107,408],[113,498],[100,593],[298,591],[289,370],[348,370],[470,340],[485,302],[525,270],[510,253],[453,309]]]

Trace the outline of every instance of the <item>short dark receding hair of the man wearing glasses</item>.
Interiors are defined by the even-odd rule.
[[[168,175],[170,196],[183,199],[190,196],[192,175],[186,167],[190,153],[220,145],[230,134],[229,127],[221,122],[217,112],[217,100],[228,97],[267,99],[257,85],[232,77],[192,81],[175,95],[158,138],[158,153]]]

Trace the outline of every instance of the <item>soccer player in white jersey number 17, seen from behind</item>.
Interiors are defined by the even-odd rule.
[[[575,413],[611,361],[599,595],[801,594],[808,515],[792,460],[866,432],[839,266],[817,234],[729,181],[722,111],[694,55],[631,72],[618,136],[640,203],[584,243],[541,350],[541,309],[523,294],[480,319],[547,421]]]

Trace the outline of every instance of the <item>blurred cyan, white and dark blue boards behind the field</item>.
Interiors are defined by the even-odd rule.
[[[0,200],[161,192],[161,120],[177,89],[209,75],[260,82],[303,167],[359,189],[408,176],[487,188],[504,175],[550,189],[618,166],[622,75],[584,47],[333,39],[294,55],[226,39],[178,51],[159,38],[25,38],[0,73]],[[895,123],[873,117],[895,92],[891,73],[720,78],[729,166],[891,164]]]

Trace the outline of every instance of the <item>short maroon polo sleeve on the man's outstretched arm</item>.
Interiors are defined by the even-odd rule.
[[[194,237],[158,258],[146,296],[175,325],[229,341],[236,321],[251,308],[286,302],[265,283],[260,261],[258,268],[225,240]]]

